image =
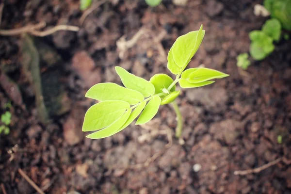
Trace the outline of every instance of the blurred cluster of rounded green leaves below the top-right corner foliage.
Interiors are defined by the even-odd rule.
[[[280,39],[280,34],[281,24],[275,18],[267,20],[261,31],[255,30],[250,32],[251,56],[257,61],[265,59],[275,49],[273,42]]]

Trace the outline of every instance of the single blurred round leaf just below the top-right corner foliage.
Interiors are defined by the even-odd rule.
[[[273,38],[275,41],[278,41],[281,35],[281,24],[275,18],[268,19],[263,25],[262,31]]]

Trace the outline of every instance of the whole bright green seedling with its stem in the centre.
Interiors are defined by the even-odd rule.
[[[228,76],[209,68],[185,70],[198,50],[204,34],[201,25],[199,31],[178,37],[170,49],[167,67],[176,76],[175,80],[166,74],[156,74],[150,81],[146,81],[116,66],[116,73],[125,87],[115,83],[98,83],[92,86],[85,97],[100,102],[91,106],[85,114],[82,131],[96,131],[87,138],[109,137],[128,127],[139,115],[135,125],[145,124],[156,115],[160,105],[169,103],[177,113],[176,137],[180,137],[183,119],[174,101],[180,94],[176,90],[176,84],[179,83],[181,88],[196,88],[214,82],[210,80]]]

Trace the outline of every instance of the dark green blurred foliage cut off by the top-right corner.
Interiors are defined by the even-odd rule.
[[[291,0],[264,0],[271,17],[279,20],[282,28],[291,31]]]

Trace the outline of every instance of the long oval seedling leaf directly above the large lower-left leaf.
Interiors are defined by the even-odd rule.
[[[144,96],[141,93],[122,87],[116,83],[97,83],[88,90],[85,97],[90,97],[99,101],[122,100],[131,105],[144,100]]]

